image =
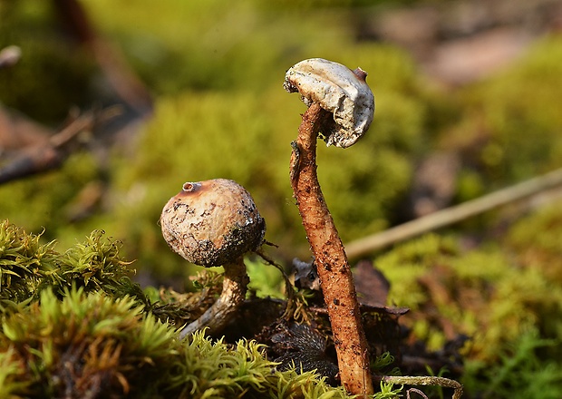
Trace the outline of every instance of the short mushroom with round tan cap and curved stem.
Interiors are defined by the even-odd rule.
[[[160,224],[170,248],[182,258],[205,268],[224,268],[220,297],[180,338],[206,326],[219,332],[246,297],[244,255],[263,244],[265,220],[246,189],[233,180],[215,179],[185,183],[162,209]]]

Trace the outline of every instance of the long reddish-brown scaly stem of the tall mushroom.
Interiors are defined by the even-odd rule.
[[[316,139],[332,114],[313,102],[303,115],[291,155],[291,185],[332,325],[339,375],[351,394],[373,394],[369,352],[354,280],[316,174]]]

